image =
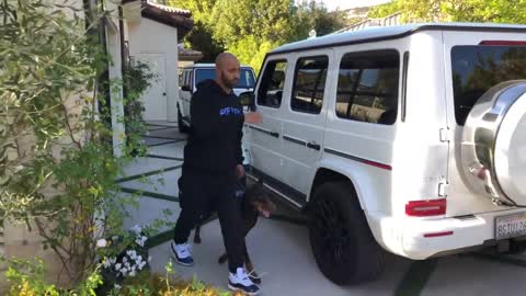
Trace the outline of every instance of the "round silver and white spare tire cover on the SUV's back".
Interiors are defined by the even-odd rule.
[[[505,205],[526,205],[526,80],[488,90],[462,132],[461,163],[468,186]]]

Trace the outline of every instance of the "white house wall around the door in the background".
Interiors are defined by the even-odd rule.
[[[178,72],[178,30],[142,18],[140,23],[128,23],[129,55],[162,54],[165,56],[167,76],[167,118],[178,119],[176,102],[179,100]],[[148,99],[146,99],[148,104]]]

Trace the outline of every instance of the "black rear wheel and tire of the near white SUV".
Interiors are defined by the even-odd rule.
[[[338,285],[374,281],[384,271],[376,242],[353,186],[330,182],[316,189],[309,237],[318,267]]]

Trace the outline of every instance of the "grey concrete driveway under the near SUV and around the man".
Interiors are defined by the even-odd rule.
[[[119,180],[123,194],[138,194],[140,207],[129,208],[127,226],[155,219],[175,221],[179,215],[176,179],[181,173],[184,135],[169,123],[151,123],[148,157],[137,159]],[[170,209],[171,215],[163,214]],[[152,270],[164,273],[170,260],[171,227],[150,240]],[[196,264],[174,265],[184,278],[198,280],[226,289],[227,265],[217,263],[224,252],[217,220],[202,228],[203,243],[194,244]],[[386,271],[373,283],[341,287],[318,270],[301,218],[286,207],[278,216],[261,218],[247,239],[249,252],[263,277],[262,295],[526,295],[526,254],[488,255],[468,253],[426,261],[387,255]]]

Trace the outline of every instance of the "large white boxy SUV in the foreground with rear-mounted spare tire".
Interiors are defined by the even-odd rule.
[[[252,174],[309,214],[338,284],[526,235],[526,26],[411,24],[288,44],[255,88]]]

